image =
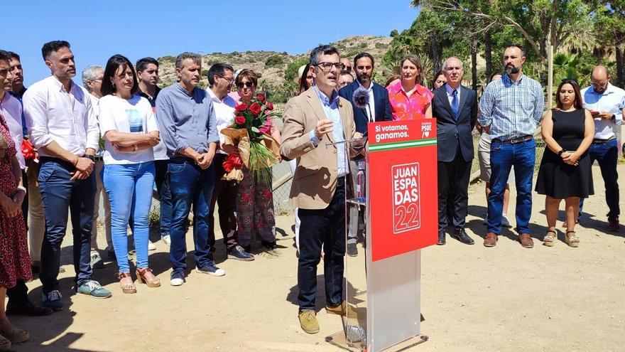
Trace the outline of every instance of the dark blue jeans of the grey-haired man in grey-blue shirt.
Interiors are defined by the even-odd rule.
[[[208,243],[208,213],[214,188],[214,166],[200,169],[191,159],[170,159],[165,176],[165,188],[171,193],[173,213],[169,235],[169,259],[172,269],[184,274],[187,270],[186,223],[193,204],[193,242],[195,265],[203,267],[212,263]]]

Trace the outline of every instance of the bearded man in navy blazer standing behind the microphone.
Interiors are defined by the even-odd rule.
[[[388,92],[386,88],[371,80],[371,76],[374,73],[374,57],[369,53],[359,53],[354,58],[354,68],[356,80],[342,87],[341,90],[339,90],[339,95],[349,100],[349,102],[352,102],[354,91],[359,87],[364,87],[364,89],[369,92],[368,107],[357,107],[352,102],[356,132],[364,134],[368,122],[391,121],[393,116],[391,115],[391,104],[388,102]],[[364,163],[364,158],[359,157],[354,160],[354,163]],[[352,174],[355,175],[356,172]],[[364,213],[361,211],[360,215],[362,216]],[[358,255],[356,242],[356,231],[349,231],[349,236],[347,238],[347,255],[351,257]]]

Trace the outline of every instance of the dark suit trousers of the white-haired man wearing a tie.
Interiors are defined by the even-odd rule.
[[[455,232],[464,229],[469,209],[470,173],[471,161],[464,161],[460,148],[453,161],[438,162],[438,233],[445,232],[448,220],[452,220]]]

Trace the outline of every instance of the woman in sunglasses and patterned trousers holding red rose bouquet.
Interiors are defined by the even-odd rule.
[[[234,85],[241,100],[240,104],[247,104],[254,98],[259,78],[253,70],[242,70]],[[280,131],[272,119],[267,121],[268,134],[281,142]],[[271,181],[267,183],[260,177],[251,173],[249,169],[243,167],[243,180],[239,183],[239,194],[237,197],[237,222],[239,233],[239,245],[246,252],[251,250],[252,235],[256,233],[261,238],[261,243],[268,250],[275,249],[276,246],[276,219],[273,214],[273,188]]]

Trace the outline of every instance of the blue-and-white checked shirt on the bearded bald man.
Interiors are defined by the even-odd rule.
[[[491,138],[507,141],[536,132],[545,110],[545,95],[540,83],[526,75],[516,82],[503,75],[487,85],[479,110],[479,124],[491,127]]]

